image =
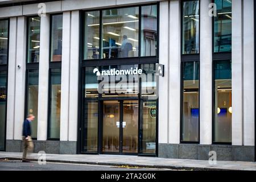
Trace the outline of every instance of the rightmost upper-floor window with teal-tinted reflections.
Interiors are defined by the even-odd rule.
[[[214,52],[230,52],[232,42],[232,0],[215,0]]]

